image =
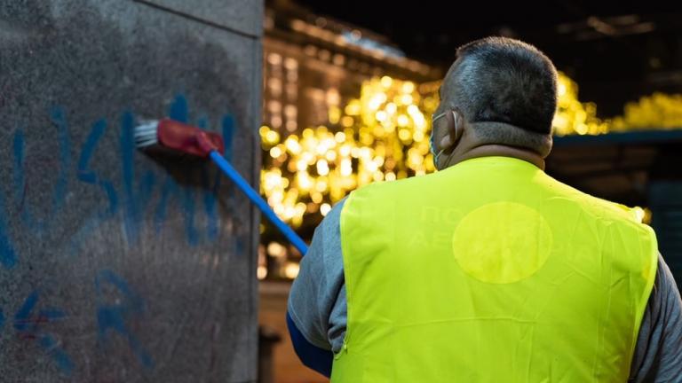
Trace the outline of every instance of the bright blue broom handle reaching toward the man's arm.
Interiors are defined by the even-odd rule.
[[[293,231],[289,225],[286,223],[283,223],[280,217],[274,214],[274,211],[272,208],[270,208],[269,205],[267,205],[267,202],[260,197],[260,194],[258,194],[257,191],[253,190],[251,185],[246,182],[244,178],[235,170],[232,165],[230,165],[229,162],[217,151],[211,151],[210,152],[210,159],[213,160],[213,162],[218,165],[218,168],[225,173],[226,176],[228,176],[234,184],[237,184],[237,186],[242,189],[244,194],[246,194],[247,197],[256,204],[256,206],[260,209],[261,212],[263,212],[264,215],[266,215],[267,219],[270,220],[270,222],[274,223],[275,226],[277,226],[277,229],[282,231],[282,234],[289,239],[289,242],[291,242],[291,245],[296,247],[298,251],[301,253],[301,255],[305,255],[305,253],[308,251],[308,246],[305,245],[305,242],[303,239],[298,237],[298,234],[296,231]]]

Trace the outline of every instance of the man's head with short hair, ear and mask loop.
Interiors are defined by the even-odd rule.
[[[545,157],[556,107],[557,71],[541,51],[504,37],[467,43],[440,87],[433,151],[453,154],[469,134],[476,145],[508,145]]]

